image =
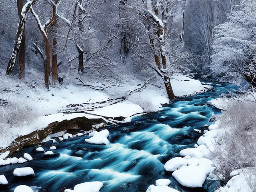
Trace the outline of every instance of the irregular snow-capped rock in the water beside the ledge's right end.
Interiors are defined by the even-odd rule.
[[[100,132],[94,131],[93,136],[89,139],[85,139],[84,141],[90,144],[100,144],[100,145],[107,145],[109,143],[108,136],[109,131],[107,129],[102,130]],[[91,134],[92,135],[92,134]]]

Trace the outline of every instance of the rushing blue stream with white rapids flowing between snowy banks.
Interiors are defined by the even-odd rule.
[[[72,138],[54,144],[57,147],[54,151],[60,154],[54,158],[36,154],[36,147],[26,148],[13,157],[27,152],[34,160],[1,166],[0,174],[6,176],[10,185],[0,191],[12,191],[26,184],[41,187],[38,191],[59,192],[64,187],[73,189],[82,182],[102,181],[101,192],[145,192],[157,179],[169,178],[170,186],[182,192],[212,192],[218,182],[207,180],[202,189],[183,188],[164,171],[164,163],[179,156],[180,150],[194,147],[201,136],[194,128],[204,130],[203,125],[212,111],[219,112],[205,103],[235,88],[230,84],[215,84],[212,91],[175,100],[160,112],[135,117],[131,123],[108,126],[108,145],[87,144],[84,139],[88,136]],[[32,167],[36,176],[23,180],[14,178],[13,170],[18,167]]]

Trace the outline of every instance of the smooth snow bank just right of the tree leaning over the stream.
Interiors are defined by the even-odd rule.
[[[177,97],[194,95],[211,88],[209,85],[203,85],[199,80],[191,79],[178,73],[172,76],[171,85],[174,95]]]

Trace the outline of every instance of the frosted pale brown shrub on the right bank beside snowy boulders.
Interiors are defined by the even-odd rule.
[[[218,166],[225,178],[235,169],[254,167],[256,158],[256,102],[227,100],[220,121],[224,130],[218,144]]]

